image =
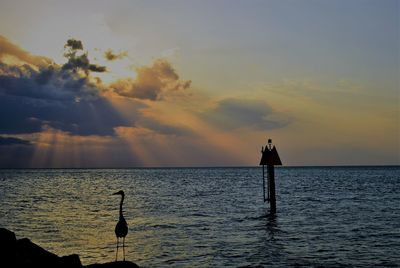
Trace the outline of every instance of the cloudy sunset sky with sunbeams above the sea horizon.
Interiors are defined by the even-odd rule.
[[[397,0],[0,2],[0,167],[400,164]]]

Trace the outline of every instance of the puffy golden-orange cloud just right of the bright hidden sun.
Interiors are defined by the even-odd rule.
[[[172,65],[164,60],[156,60],[150,67],[137,68],[136,79],[124,79],[112,83],[110,87],[120,96],[160,100],[168,92],[185,90],[191,81],[181,81]]]

